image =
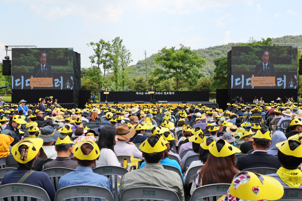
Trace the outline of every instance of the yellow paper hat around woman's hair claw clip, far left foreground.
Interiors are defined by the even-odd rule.
[[[27,145],[28,149],[23,149],[20,153],[18,151],[18,148],[23,144]],[[26,138],[15,144],[11,148],[11,153],[13,154],[13,157],[17,162],[24,164],[35,158],[42,145],[43,139],[41,138]]]

